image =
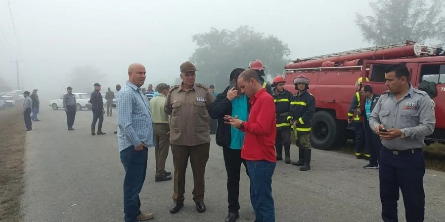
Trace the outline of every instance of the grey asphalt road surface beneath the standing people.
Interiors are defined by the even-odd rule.
[[[28,222],[123,221],[124,169],[117,147],[116,117],[103,123],[106,135],[91,136],[90,111],[78,111],[75,131],[67,131],[65,112],[42,107],[41,122],[33,122],[26,136],[25,193],[22,218]],[[185,206],[175,215],[173,181],[155,183],[154,149],[149,149],[147,177],[141,191],[142,211],[153,212],[153,221],[218,222],[227,214],[226,173],[223,152],[214,143],[206,168],[207,212],[197,213],[192,200],[192,173],[187,170]],[[292,147],[292,158],[298,155]],[[312,170],[278,162],[273,176],[277,222],[376,222],[381,221],[378,170],[365,170],[364,160],[331,151],[312,151]],[[167,171],[173,171],[171,152]],[[253,221],[249,181],[242,169],[240,219]],[[425,221],[444,221],[445,173],[427,170]],[[402,198],[401,198],[402,199]],[[402,200],[399,219],[404,221]]]

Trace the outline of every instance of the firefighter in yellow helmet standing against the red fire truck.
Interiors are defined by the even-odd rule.
[[[369,81],[369,79],[366,77],[366,81]],[[352,124],[354,126],[354,131],[356,133],[356,142],[355,142],[355,148],[356,148],[356,158],[361,159],[365,158],[366,160],[369,160],[371,158],[370,152],[365,149],[365,131],[364,131],[364,125],[363,125],[363,119],[360,119],[361,116],[361,85],[362,85],[362,77],[358,78],[356,82],[356,86],[358,87],[358,92],[356,92],[352,98],[351,106],[348,111],[348,123]]]

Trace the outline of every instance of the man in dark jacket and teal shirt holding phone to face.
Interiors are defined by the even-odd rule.
[[[230,80],[238,79],[243,68],[236,68],[230,73]],[[239,218],[239,176],[241,163],[246,167],[246,161],[241,159],[241,148],[244,142],[244,132],[235,129],[229,124],[224,124],[224,115],[237,116],[239,119],[247,120],[249,116],[250,103],[245,94],[237,87],[225,90],[218,94],[209,108],[212,118],[218,119],[216,132],[216,143],[223,147],[225,170],[227,172],[227,194],[228,194],[228,216],[226,222],[234,222]],[[246,167],[247,175],[249,175]]]

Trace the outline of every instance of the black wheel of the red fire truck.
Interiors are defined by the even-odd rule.
[[[311,144],[313,148],[329,150],[337,135],[334,117],[327,111],[317,111],[312,117]]]

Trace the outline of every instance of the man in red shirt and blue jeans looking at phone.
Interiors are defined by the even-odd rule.
[[[244,131],[241,158],[247,161],[250,178],[250,202],[255,211],[256,222],[275,222],[275,207],[272,197],[272,175],[276,166],[275,103],[261,85],[258,74],[252,70],[242,72],[238,87],[250,98],[249,118],[242,121],[237,116],[225,116],[226,123]]]

